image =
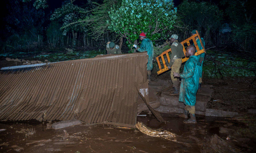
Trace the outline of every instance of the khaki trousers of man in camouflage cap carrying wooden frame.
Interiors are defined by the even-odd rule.
[[[182,59],[176,59],[172,65],[171,69],[171,80],[172,80],[172,87],[178,87],[179,86],[179,78],[174,78],[173,71],[176,73],[179,73],[179,69],[181,69],[181,63]]]

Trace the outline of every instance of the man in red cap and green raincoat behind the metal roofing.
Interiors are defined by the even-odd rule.
[[[133,45],[133,47],[139,51],[139,52],[148,52],[148,64],[147,64],[147,71],[148,71],[148,80],[150,81],[150,75],[151,75],[151,70],[153,69],[153,54],[154,54],[154,49],[153,49],[153,43],[150,39],[146,38],[146,34],[143,32],[139,35],[141,44],[140,47],[137,47],[137,45]]]

